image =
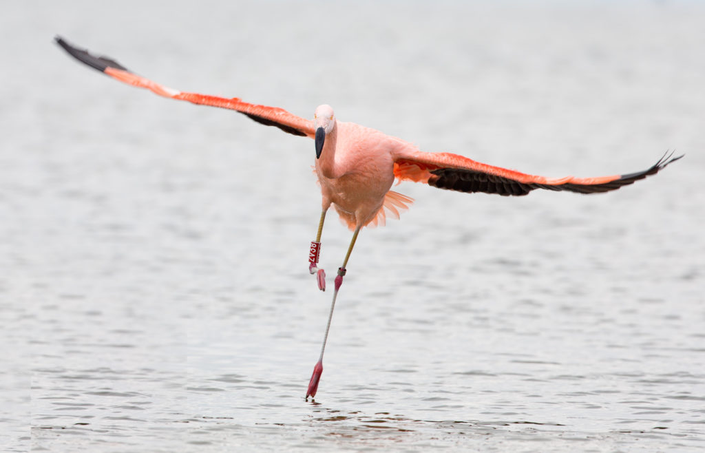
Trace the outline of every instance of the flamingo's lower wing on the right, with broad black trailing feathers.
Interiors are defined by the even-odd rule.
[[[617,190],[646,176],[655,175],[681,157],[673,157],[673,152],[666,153],[650,168],[627,175],[545,178],[490,166],[458,154],[402,150],[395,156],[394,176],[399,180],[425,182],[439,189],[458,192],[485,192],[508,196],[526,195],[534,189],[548,189],[591,194]]]

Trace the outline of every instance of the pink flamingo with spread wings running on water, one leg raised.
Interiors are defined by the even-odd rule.
[[[666,152],[646,170],[625,175],[597,178],[545,178],[507,168],[490,166],[458,154],[428,153],[415,145],[378,130],[336,119],[333,108],[321,105],[316,108],[313,120],[293,115],[283,108],[249,104],[240,98],[223,98],[181,92],[136,75],[114,59],[90,54],[75,47],[62,37],[55,38],[68,54],[116,80],[128,85],[149,89],[159,96],[190,101],[193,104],[229,108],[267,126],[284,132],[314,139],[316,150],[315,170],[321,187],[321,217],[316,239],[309,249],[309,273],[316,275],[320,290],[326,289],[326,274],[318,268],[321,251],[321,233],[326,213],[331,206],[336,209],[343,223],[353,230],[348,252],[334,280],[333,300],[324,333],[319,360],[314,366],[305,399],[315,397],[323,373],[323,354],[336,306],[338,290],[343,285],[350,253],[355,240],[365,226],[384,225],[387,215],[399,218],[400,211],[408,209],[413,199],[390,190],[395,180],[422,182],[440,189],[458,192],[485,192],[503,196],[522,196],[532,190],[591,194],[610,192],[630,185],[646,176],[655,175],[668,164],[682,158]]]

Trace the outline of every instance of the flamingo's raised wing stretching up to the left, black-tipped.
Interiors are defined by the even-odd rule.
[[[182,101],[190,101],[193,104],[230,108],[231,110],[247,115],[257,121],[257,123],[274,126],[293,135],[313,138],[316,133],[313,129],[313,122],[311,120],[301,118],[300,116],[295,116],[293,113],[289,113],[283,108],[248,104],[247,102],[243,102],[236,97],[228,99],[223,97],[208,96],[206,94],[180,92],[176,89],[159,85],[157,82],[152,82],[152,80],[145,79],[145,77],[140,77],[139,75],[130,72],[130,70],[125,68],[125,66],[122,66],[112,58],[92,55],[85,49],[79,49],[78,47],[68,44],[65,39],[59,36],[57,36],[55,40],[56,44],[59,44],[59,46],[67,51],[68,54],[73,56],[73,58],[76,58],[81,63],[97,69],[102,73],[113,77],[114,79],[120,80],[121,82],[134,85],[135,87],[147,88],[152,92],[159,94],[159,96],[171,97],[172,99],[180,99]]]

